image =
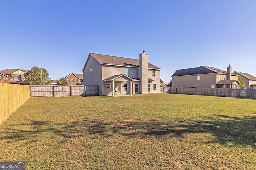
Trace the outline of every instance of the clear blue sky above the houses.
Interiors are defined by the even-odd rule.
[[[256,76],[256,0],[0,0],[0,70],[82,73],[89,53]]]

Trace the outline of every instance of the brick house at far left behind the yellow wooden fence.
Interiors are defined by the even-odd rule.
[[[24,69],[5,69],[0,70],[0,83],[12,83],[12,84],[28,84],[24,81],[24,74],[28,70]]]

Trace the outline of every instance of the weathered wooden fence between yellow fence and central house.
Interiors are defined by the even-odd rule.
[[[31,97],[95,96],[98,86],[30,86]]]

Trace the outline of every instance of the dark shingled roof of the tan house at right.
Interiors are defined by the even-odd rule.
[[[176,70],[174,74],[172,74],[172,77],[195,75],[195,74],[211,74],[211,73],[227,74],[227,71],[221,70],[219,68],[209,67],[209,66],[200,66],[195,68],[185,68],[181,70]],[[236,76],[237,74],[232,73],[232,75]]]

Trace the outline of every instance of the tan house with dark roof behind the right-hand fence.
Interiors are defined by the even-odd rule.
[[[172,87],[175,88],[239,88],[238,75],[214,67],[200,66],[176,70],[172,75]]]

